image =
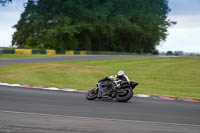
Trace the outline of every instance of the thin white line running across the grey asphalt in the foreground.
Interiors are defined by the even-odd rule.
[[[30,112],[17,112],[17,111],[7,111],[7,110],[0,110],[0,112],[3,112],[3,113],[12,113],[12,114],[25,114],[25,115],[64,117],[64,118],[75,118],[75,119],[88,119],[88,120],[105,120],[105,121],[132,122],[132,123],[135,122],[135,123],[149,123],[149,124],[164,124],[164,125],[200,127],[200,125],[194,125],[194,124],[181,124],[181,123],[168,123],[168,122],[151,122],[151,121],[135,121],[135,120],[108,119],[108,118],[95,118],[95,117],[79,117],[79,116],[40,114],[40,113],[30,113]]]

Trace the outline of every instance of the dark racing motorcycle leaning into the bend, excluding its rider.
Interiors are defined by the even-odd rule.
[[[94,100],[96,98],[116,98],[118,102],[127,102],[133,97],[133,90],[138,85],[137,82],[120,82],[116,86],[115,82],[107,77],[99,80],[96,88],[91,89],[86,94],[87,100]]]

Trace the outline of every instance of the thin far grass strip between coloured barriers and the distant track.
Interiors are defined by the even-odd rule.
[[[43,54],[35,54],[35,55],[15,55],[15,54],[0,54],[1,59],[13,59],[13,58],[41,58],[41,57],[57,57],[57,56],[65,56],[65,55],[43,55]]]

